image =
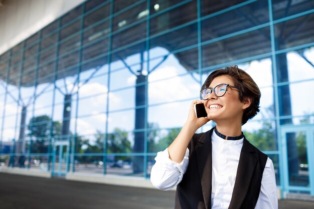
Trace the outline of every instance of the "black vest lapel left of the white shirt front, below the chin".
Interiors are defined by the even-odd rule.
[[[197,164],[201,179],[202,192],[206,209],[211,208],[212,194],[212,141],[211,135],[214,129],[207,131],[195,146]]]

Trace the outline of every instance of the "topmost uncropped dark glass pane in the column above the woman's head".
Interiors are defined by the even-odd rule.
[[[202,41],[252,28],[268,21],[267,1],[257,1],[202,21]],[[263,30],[259,31],[264,39],[269,39],[269,33],[265,32]]]

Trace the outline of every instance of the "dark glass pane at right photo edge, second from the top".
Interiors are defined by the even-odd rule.
[[[274,25],[276,50],[314,42],[313,24],[314,16],[309,14]]]

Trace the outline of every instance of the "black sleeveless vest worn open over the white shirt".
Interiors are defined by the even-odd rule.
[[[177,186],[176,209],[211,208],[213,130],[194,134],[188,146],[189,165]],[[229,209],[254,209],[266,161],[267,155],[244,137]]]

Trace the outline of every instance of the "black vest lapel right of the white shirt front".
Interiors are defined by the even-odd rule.
[[[254,149],[248,140],[244,138],[229,209],[239,209],[247,194],[257,164],[257,159],[251,152],[254,152]]]

